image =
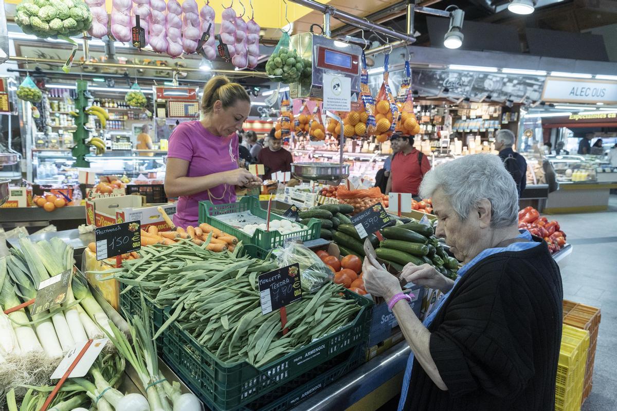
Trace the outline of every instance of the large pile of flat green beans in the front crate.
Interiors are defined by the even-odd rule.
[[[238,257],[240,248],[213,253],[190,242],[147,246],[140,251],[144,258],[106,273],[141,288],[157,305],[172,306],[155,337],[175,321],[223,362],[247,360],[255,367],[349,324],[360,310],[339,295],[340,285],[328,283],[287,307],[283,335],[278,311],[262,315],[257,287],[257,276],[278,266],[269,258]]]

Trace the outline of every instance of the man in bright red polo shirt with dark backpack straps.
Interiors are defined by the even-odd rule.
[[[390,140],[397,142],[399,151],[392,156],[386,194],[411,193],[417,196],[422,177],[431,169],[431,163],[425,155],[413,148],[413,136],[397,133],[392,134]]]

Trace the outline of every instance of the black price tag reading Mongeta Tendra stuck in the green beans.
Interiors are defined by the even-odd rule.
[[[300,265],[291,264],[257,277],[262,314],[268,314],[302,299]]]

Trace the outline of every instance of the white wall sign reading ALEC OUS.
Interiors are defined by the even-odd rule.
[[[542,100],[617,104],[617,81],[549,77],[544,82]]]

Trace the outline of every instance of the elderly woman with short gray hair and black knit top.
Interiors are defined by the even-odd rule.
[[[366,291],[383,296],[412,349],[399,410],[553,411],[561,340],[561,275],[547,244],[519,232],[518,196],[495,155],[468,155],[424,176],[436,235],[463,262],[452,281],[407,264],[401,278],[444,296],[424,322],[399,279],[364,261]]]

